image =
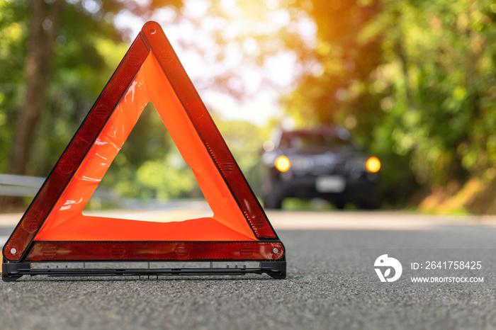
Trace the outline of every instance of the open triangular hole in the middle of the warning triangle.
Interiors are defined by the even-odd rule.
[[[152,103],[143,110],[83,215],[152,222],[213,216],[191,167]]]

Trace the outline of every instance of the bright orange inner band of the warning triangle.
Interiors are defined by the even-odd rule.
[[[154,86],[147,89],[148,84]],[[153,101],[152,101],[153,100]],[[214,216],[184,222],[137,222],[88,217],[82,211],[148,102],[154,102],[179,152],[191,164]],[[45,220],[35,241],[247,241],[256,240],[210,159],[191,120],[152,54],[89,149],[74,177]],[[187,132],[185,134],[185,132]],[[196,135],[196,137],[195,137]],[[195,146],[198,146],[195,148]],[[203,148],[200,148],[203,147]],[[167,169],[164,169],[167,171]],[[217,182],[212,172],[217,173]],[[158,173],[157,173],[158,175]],[[209,200],[210,199],[210,200]],[[231,200],[229,200],[231,199]]]

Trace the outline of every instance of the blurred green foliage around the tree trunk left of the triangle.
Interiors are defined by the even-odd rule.
[[[45,1],[51,6],[53,1]],[[74,0],[64,4],[52,52],[52,74],[40,121],[35,126],[27,174],[46,176],[105,86],[128,45],[113,26],[123,10],[150,15],[154,8],[181,1]],[[31,1],[0,1],[0,171],[6,171],[23,88],[23,67]],[[45,28],[45,26],[43,27]],[[46,28],[50,28],[48,25]]]

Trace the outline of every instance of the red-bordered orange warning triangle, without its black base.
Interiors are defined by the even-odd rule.
[[[82,214],[147,103],[213,217],[144,222]],[[167,169],[164,169],[167,171]],[[162,28],[148,22],[3,249],[35,261],[284,261],[284,248]]]

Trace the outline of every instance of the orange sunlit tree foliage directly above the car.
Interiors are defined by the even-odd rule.
[[[310,59],[310,74],[286,100],[298,123],[333,123],[346,109],[370,113],[374,106],[361,93],[361,82],[380,61],[378,41],[361,42],[360,31],[377,13],[377,6],[356,1],[297,1],[317,26],[317,45]],[[353,121],[352,119],[350,119]]]

